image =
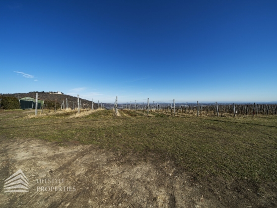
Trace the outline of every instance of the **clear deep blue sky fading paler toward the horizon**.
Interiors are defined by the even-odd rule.
[[[277,100],[277,1],[1,1],[0,93]]]

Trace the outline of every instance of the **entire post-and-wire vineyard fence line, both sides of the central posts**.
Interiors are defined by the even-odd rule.
[[[277,104],[258,104],[258,103],[200,103],[183,102],[173,100],[160,100],[154,101],[147,99],[132,100],[129,102],[118,103],[117,97],[112,103],[104,103],[93,98],[88,98],[82,95],[78,95],[75,101],[65,101],[61,103],[60,110],[73,109],[78,110],[94,110],[94,109],[113,109],[114,114],[117,115],[118,110],[134,110],[142,111],[149,115],[150,113],[163,113],[166,115],[182,116],[186,114],[192,114],[196,116],[224,116],[224,115],[276,115]]]

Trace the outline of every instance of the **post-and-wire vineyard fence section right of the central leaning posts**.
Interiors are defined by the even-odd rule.
[[[176,102],[173,100],[150,101],[149,99],[134,100],[125,103],[115,104],[115,111],[135,110],[149,113],[163,113],[174,116],[193,114],[196,116],[224,116],[224,115],[277,115],[277,104],[236,104],[236,103],[199,103]]]

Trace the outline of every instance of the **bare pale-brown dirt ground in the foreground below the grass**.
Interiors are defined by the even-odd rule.
[[[232,184],[206,187],[177,173],[170,162],[139,161],[92,146],[2,139],[0,149],[0,207],[250,207],[254,194],[243,198],[240,190],[230,190]],[[29,180],[29,192],[4,192],[5,179],[19,169]],[[257,207],[263,207],[263,199],[270,204],[260,197]]]

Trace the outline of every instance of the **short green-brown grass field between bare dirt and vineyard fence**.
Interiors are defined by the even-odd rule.
[[[3,139],[41,138],[60,145],[93,144],[156,161],[173,160],[197,177],[217,176],[277,182],[277,116],[184,116],[100,110],[83,117],[75,111],[31,117],[2,111]]]

